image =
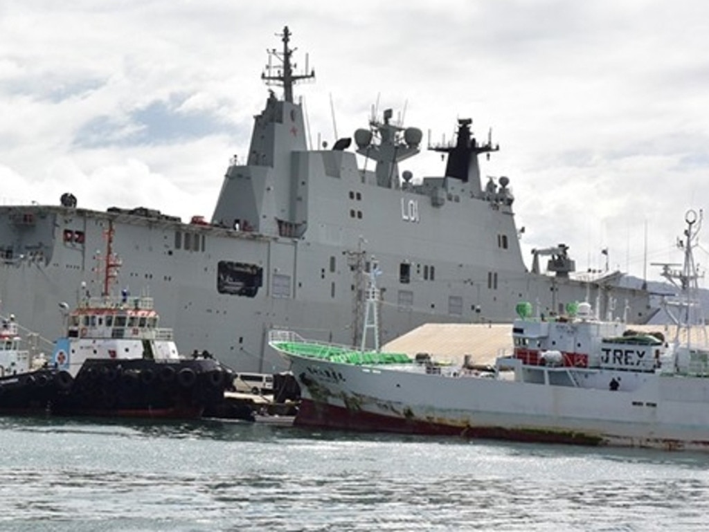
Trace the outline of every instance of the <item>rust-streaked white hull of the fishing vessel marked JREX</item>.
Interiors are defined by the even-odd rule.
[[[299,426],[709,450],[702,378],[647,373],[634,391],[619,392],[289,358],[303,395]],[[605,376],[613,375],[628,376]]]

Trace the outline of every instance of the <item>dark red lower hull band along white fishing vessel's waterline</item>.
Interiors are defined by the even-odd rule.
[[[527,443],[565,443],[584,446],[598,446],[604,443],[599,436],[580,432],[505,429],[499,426],[453,426],[423,419],[388,417],[361,410],[349,410],[306,399],[301,402],[294,425],[360,432],[457,436]]]

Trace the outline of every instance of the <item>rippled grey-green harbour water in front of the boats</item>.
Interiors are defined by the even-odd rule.
[[[703,530],[709,455],[0,418],[1,531]]]

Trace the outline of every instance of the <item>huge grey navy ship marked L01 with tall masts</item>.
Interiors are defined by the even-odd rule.
[[[112,226],[119,283],[150,291],[179,345],[238,370],[284,368],[267,342],[274,327],[358,345],[372,257],[382,272],[383,343],[426,322],[512,322],[519,300],[550,314],[590,300],[601,316],[617,305],[630,322],[652,315],[649,293],[620,287],[619,272],[576,278],[564,244],[535,251],[525,267],[510,180],[481,181],[478,159],[498,147],[477,140],[471,120],[458,120],[449,144],[428,147],[447,159],[442,176],[400,172],[423,135],[391,110],[330,149],[308,149],[294,86],[314,72],[295,72],[289,29],[280,36],[262,78],[282,96],[269,89],[246,164],[230,161],[211,220],[184,223],[144,207],[86,210],[71,193],[59,205],[0,207],[4,307],[29,329],[58,336],[58,303],[101,294],[94,255]]]

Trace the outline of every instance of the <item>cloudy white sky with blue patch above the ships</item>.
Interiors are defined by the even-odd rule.
[[[377,101],[435,142],[470,117],[501,146],[483,171],[510,178],[527,264],[564,242],[579,269],[607,247],[642,276],[645,227],[648,262],[681,259],[684,214],[709,200],[704,0],[4,0],[0,203],[72,191],[210,217],[286,25],[316,69],[296,89],[313,142],[352,135]]]

